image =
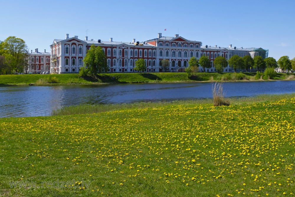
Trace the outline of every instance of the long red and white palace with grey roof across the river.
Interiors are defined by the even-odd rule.
[[[178,34],[174,37],[162,36],[158,33],[157,38],[147,40],[145,42],[117,42],[110,38],[109,41],[88,40],[86,36],[84,40],[78,39],[78,36],[69,38],[66,34],[64,40],[55,39],[50,45],[50,73],[78,73],[79,69],[84,66],[83,59],[87,50],[91,45],[101,46],[107,57],[109,66],[108,72],[137,72],[134,70],[135,62],[142,58],[147,65],[146,72],[161,72],[162,67],[160,61],[168,59],[170,62],[169,71],[184,71],[189,66],[188,62],[191,57],[199,59],[201,56],[209,56],[211,68],[206,72],[215,72],[214,59],[222,56],[227,60],[233,55],[241,57],[250,55],[260,55],[267,58],[268,50],[262,48],[237,48],[202,46],[202,42],[187,40]],[[199,68],[199,71],[203,71]],[[224,68],[224,72],[232,72],[230,66]]]

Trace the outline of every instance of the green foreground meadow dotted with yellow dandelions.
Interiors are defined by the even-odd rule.
[[[269,98],[0,118],[1,195],[294,196],[295,98]]]

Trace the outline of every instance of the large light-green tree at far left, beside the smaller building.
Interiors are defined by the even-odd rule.
[[[3,55],[6,60],[10,62],[12,72],[22,71],[24,64],[24,54],[27,51],[27,45],[21,38],[9,36],[1,44],[3,48]]]

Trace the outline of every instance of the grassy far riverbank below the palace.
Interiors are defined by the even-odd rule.
[[[71,84],[114,84],[114,83],[166,83],[166,82],[213,82],[255,81],[256,73],[110,73],[81,78],[78,74],[24,74],[0,75],[0,86],[26,85],[71,85]],[[274,80],[294,79],[293,74],[277,73]]]

